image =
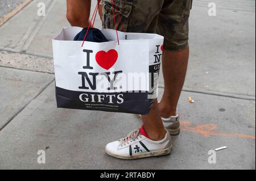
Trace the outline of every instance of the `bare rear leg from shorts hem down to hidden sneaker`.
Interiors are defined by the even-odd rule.
[[[177,103],[185,81],[188,67],[189,47],[172,52],[163,52],[164,94],[159,104],[161,116],[175,116]]]

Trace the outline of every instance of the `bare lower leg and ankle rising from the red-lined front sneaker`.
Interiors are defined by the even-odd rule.
[[[162,140],[166,135],[162,120],[160,118],[160,112],[158,108],[157,100],[150,110],[148,116],[142,116],[144,130],[151,140]]]

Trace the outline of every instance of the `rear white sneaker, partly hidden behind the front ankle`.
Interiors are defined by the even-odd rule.
[[[167,131],[171,135],[177,135],[180,133],[180,116],[171,116],[169,118],[162,118],[164,128],[167,129]]]

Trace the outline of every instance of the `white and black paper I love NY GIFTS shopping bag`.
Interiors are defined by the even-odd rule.
[[[53,40],[57,107],[147,114],[156,87],[163,37],[101,30],[104,43],[73,41],[82,28]]]

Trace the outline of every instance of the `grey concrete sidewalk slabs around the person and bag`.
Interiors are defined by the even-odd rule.
[[[39,2],[46,16],[37,15]],[[56,108],[51,39],[69,26],[65,1],[34,0],[9,19],[0,27],[0,169],[255,169],[255,1],[214,0],[217,16],[208,16],[208,2],[195,1],[191,11],[174,150],[136,161],[104,148],[139,127],[137,116]],[[162,75],[159,87],[162,94]],[[221,146],[228,149],[209,164],[208,151]],[[46,150],[46,164],[38,164],[38,150]]]

